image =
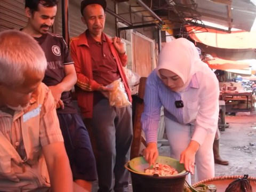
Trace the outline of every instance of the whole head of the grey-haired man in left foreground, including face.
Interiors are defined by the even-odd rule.
[[[0,106],[26,106],[41,84],[47,61],[35,39],[18,30],[0,33]]]

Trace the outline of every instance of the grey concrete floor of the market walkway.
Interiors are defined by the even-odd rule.
[[[256,116],[226,117],[226,121],[230,126],[221,132],[220,150],[221,156],[230,163],[228,166],[215,165],[215,176],[249,174],[256,177]],[[169,156],[170,147],[160,147],[159,155]],[[93,192],[97,188],[94,183]],[[131,185],[129,191],[132,191]]]

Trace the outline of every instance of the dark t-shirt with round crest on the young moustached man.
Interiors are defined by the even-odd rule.
[[[44,50],[47,59],[47,69],[43,83],[47,86],[54,86],[65,78],[64,66],[74,65],[70,57],[68,46],[60,35],[47,33],[39,38],[35,38]],[[63,92],[61,100],[64,103],[64,109],[57,109],[60,114],[77,114],[77,110],[72,104],[71,93]]]

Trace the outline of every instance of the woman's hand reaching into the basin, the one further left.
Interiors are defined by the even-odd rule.
[[[158,157],[157,143],[148,143],[147,148],[144,150],[143,155],[146,161],[149,163],[149,166],[153,165]]]

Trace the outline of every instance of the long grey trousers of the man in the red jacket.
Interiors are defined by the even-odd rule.
[[[108,99],[100,100],[93,108],[92,129],[97,142],[99,192],[109,192],[113,188],[115,192],[128,191],[129,172],[124,164],[130,161],[131,106],[109,107]]]

